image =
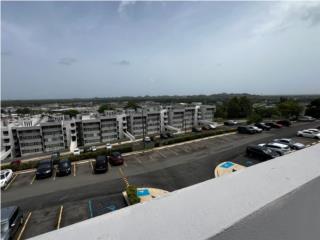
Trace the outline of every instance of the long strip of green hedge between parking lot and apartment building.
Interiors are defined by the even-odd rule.
[[[154,144],[153,144],[154,147],[151,147],[151,148],[148,147],[148,150],[151,151],[152,149],[156,149],[158,147],[164,147],[164,146],[173,145],[177,143],[188,142],[196,139],[218,136],[218,135],[232,133],[232,132],[236,132],[236,129],[228,128],[228,129],[216,129],[211,131],[204,131],[200,133],[185,133],[185,134],[175,135],[174,138],[170,138],[170,139],[157,138],[154,140]],[[141,144],[141,146],[143,146],[143,144]],[[130,153],[134,154],[135,152],[137,152],[137,150],[139,149],[137,149],[136,143],[125,143],[121,145],[115,145],[112,148],[112,151],[114,152],[127,153],[128,155]],[[144,150],[144,148],[141,148],[140,150]],[[109,154],[110,154],[110,150],[107,150],[105,148],[100,148],[100,149],[97,149],[95,152],[81,153],[80,155],[77,155],[77,156],[73,154],[70,154],[69,156],[60,156],[60,159],[68,158],[70,161],[75,162],[75,161],[80,161],[85,159],[96,158],[99,155],[109,155]],[[12,169],[13,171],[22,171],[22,170],[36,168],[38,163],[39,163],[39,160],[21,161],[21,163],[19,164],[4,163],[4,164],[1,164],[1,169]]]

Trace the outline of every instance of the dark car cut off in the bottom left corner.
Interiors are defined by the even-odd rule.
[[[1,239],[14,239],[23,224],[23,213],[18,206],[1,208]]]

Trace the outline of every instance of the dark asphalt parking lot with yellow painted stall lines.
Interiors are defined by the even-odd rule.
[[[93,174],[94,159],[73,163],[66,177],[54,173],[51,178],[36,180],[35,172],[29,171],[16,175],[3,191],[2,206],[22,206],[26,216],[31,212],[21,234],[21,239],[29,238],[125,207],[121,192],[126,181],[174,191],[213,178],[215,166],[223,161],[247,167],[260,163],[245,155],[248,144],[281,137],[291,137],[306,146],[317,143],[295,137],[303,126],[254,135],[227,134],[130,154],[122,166],[109,166],[106,174]]]

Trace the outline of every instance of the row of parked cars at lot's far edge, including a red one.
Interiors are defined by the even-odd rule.
[[[260,122],[255,123],[254,125],[247,125],[247,126],[239,126],[238,132],[239,133],[246,133],[246,134],[254,134],[254,133],[261,133],[262,131],[269,131],[271,128],[282,128],[282,127],[290,127],[291,122],[289,120],[279,120],[277,122]]]

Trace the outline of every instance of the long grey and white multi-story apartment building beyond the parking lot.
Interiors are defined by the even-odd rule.
[[[143,135],[159,135],[168,130],[190,131],[192,127],[211,124],[215,106],[180,104],[148,106],[141,109],[105,111],[102,115],[36,117],[5,124],[1,131],[1,153],[12,157],[79,146],[97,145]]]

